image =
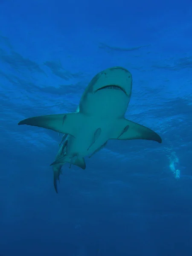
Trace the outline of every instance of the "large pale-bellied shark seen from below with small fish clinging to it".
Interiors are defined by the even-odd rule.
[[[18,125],[32,125],[64,134],[61,147],[51,164],[54,186],[64,163],[85,169],[84,157],[102,149],[108,140],[154,140],[160,136],[151,129],[125,118],[131,98],[132,75],[123,67],[101,71],[90,81],[74,113],[35,116]]]

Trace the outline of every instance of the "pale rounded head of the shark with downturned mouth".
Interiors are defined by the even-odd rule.
[[[81,97],[79,110],[87,114],[122,116],[127,110],[132,91],[131,73],[123,67],[99,72]]]

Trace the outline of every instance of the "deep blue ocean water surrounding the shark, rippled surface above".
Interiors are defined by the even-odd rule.
[[[61,135],[17,123],[75,111],[113,66],[163,143],[111,140],[56,194]],[[191,0],[0,0],[0,120],[0,256],[192,255]]]

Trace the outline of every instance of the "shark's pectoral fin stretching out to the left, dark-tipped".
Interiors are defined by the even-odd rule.
[[[81,123],[80,113],[35,116],[24,119],[18,125],[32,125],[70,134],[75,137],[76,127]]]

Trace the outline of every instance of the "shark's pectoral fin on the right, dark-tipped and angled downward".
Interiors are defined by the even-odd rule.
[[[111,139],[116,140],[154,140],[161,143],[161,137],[151,129],[127,119],[119,119],[114,127]]]

